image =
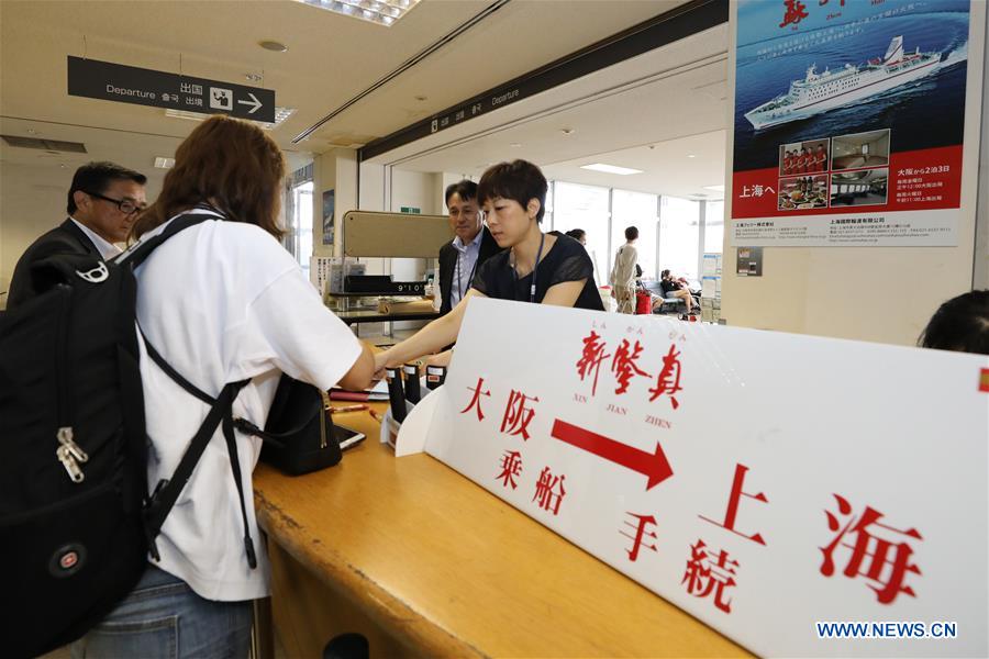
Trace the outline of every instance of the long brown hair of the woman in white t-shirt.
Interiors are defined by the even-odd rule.
[[[175,152],[175,167],[154,204],[131,230],[141,237],[176,214],[207,202],[233,222],[256,224],[280,238],[278,226],[285,160],[257,126],[215,115],[199,124]]]

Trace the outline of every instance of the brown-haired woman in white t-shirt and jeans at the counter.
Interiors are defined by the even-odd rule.
[[[136,269],[147,340],[200,390],[249,379],[233,414],[265,426],[282,372],[327,390],[364,388],[374,358],[325,306],[278,238],[285,165],[258,127],[213,116],[182,142],[157,201],[134,226],[142,239],[186,211],[212,219],[159,246]],[[148,483],[170,478],[208,405],[162,371],[142,344]],[[260,440],[237,433],[251,536],[258,538],[247,474]],[[220,429],[162,526],[160,560],[73,646],[76,657],[246,657],[251,601],[269,594],[259,543],[245,554],[241,502]]]

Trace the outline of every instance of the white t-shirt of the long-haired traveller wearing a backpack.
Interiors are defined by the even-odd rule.
[[[210,395],[227,382],[253,378],[233,413],[258,427],[265,426],[281,371],[327,390],[360,354],[356,337],[323,306],[295,259],[258,226],[208,220],[160,245],[136,276],[137,319],[147,339]],[[143,342],[141,376],[153,490],[160,479],[171,478],[209,407],[162,371]],[[241,470],[248,477],[262,442],[240,432],[236,437]],[[254,488],[245,480],[256,569],[247,565],[240,499],[219,428],[157,538],[158,567],[208,600],[269,594],[270,568],[255,521]]]

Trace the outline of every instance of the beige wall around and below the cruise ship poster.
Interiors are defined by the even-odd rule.
[[[734,9],[732,14],[734,21]],[[974,30],[985,34],[985,3],[973,3]],[[734,26],[729,66],[729,98],[734,98]],[[980,89],[980,40],[970,40],[968,100],[965,109],[967,183],[963,188],[956,247],[766,247],[763,277],[734,275],[736,252],[725,231],[722,317],[731,325],[915,345],[931,314],[945,300],[971,290],[974,269],[986,270],[987,238],[976,254],[977,180],[980,105],[989,104]],[[731,105],[731,104],[730,104]],[[731,111],[731,107],[729,109]],[[982,122],[985,124],[985,122]],[[989,137],[989,134],[985,135]],[[732,154],[729,131],[727,154]],[[731,190],[731,157],[725,190]],[[985,164],[985,161],[984,161]],[[731,212],[731,199],[725,199]],[[985,222],[985,220],[982,220]],[[986,286],[982,275],[977,286]]]

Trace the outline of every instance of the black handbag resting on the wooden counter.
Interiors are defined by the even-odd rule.
[[[329,406],[325,392],[282,373],[265,429],[245,418],[234,420],[234,425],[264,440],[262,460],[299,476],[340,462],[342,454]]]

